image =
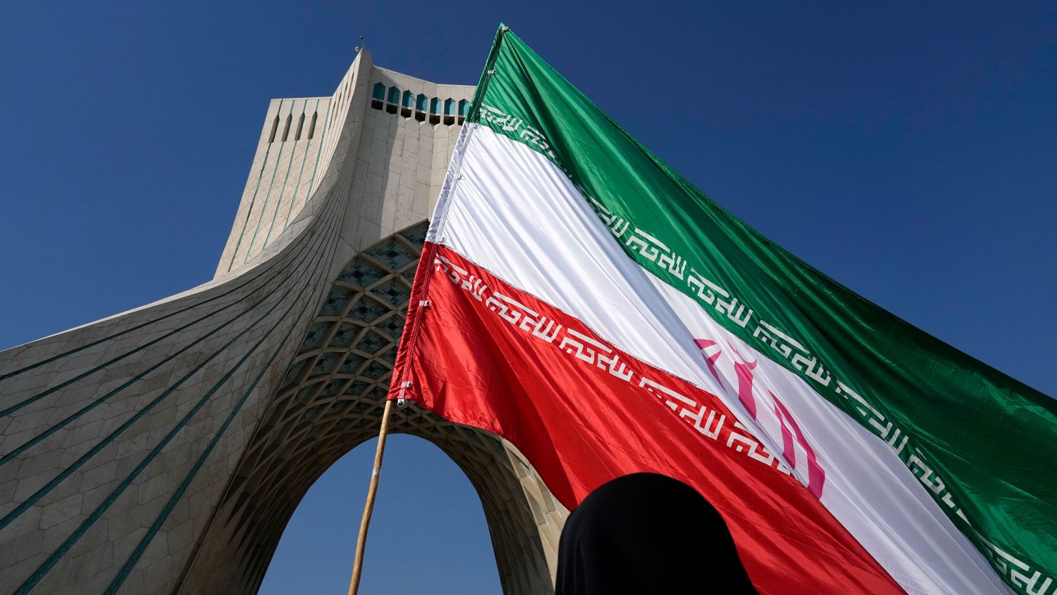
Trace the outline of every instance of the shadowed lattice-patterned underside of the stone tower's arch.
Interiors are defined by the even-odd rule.
[[[205,544],[239,544],[239,563],[257,581],[309,487],[337,459],[377,435],[427,228],[423,221],[394,234],[342,268],[262,416]],[[522,455],[492,434],[451,424],[414,404],[394,410],[390,427],[437,444],[466,472],[484,504],[504,592],[552,592],[550,576],[568,512]],[[526,539],[536,535],[539,540]],[[212,558],[204,553],[196,564],[208,565]],[[208,574],[223,584],[231,575],[217,570]]]

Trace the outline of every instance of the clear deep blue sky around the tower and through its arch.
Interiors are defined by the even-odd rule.
[[[810,4],[810,5],[805,5]],[[1057,394],[1053,2],[20,2],[0,18],[0,349],[208,280],[268,99],[375,63],[477,81],[505,21],[734,213]],[[341,593],[373,443],[262,593]],[[498,593],[472,487],[395,436],[361,593]]]

